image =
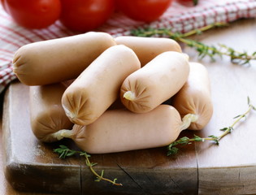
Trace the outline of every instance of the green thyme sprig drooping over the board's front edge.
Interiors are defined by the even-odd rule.
[[[75,154],[80,154],[80,156],[84,156],[85,157],[86,166],[89,167],[89,169],[90,169],[90,171],[92,171],[93,175],[96,176],[96,180],[95,181],[105,180],[105,181],[110,182],[111,184],[114,184],[114,185],[119,185],[119,186],[123,185],[123,184],[116,183],[116,180],[117,180],[116,178],[114,180],[109,180],[109,179],[105,178],[104,177],[104,170],[102,170],[101,174],[99,175],[93,169],[93,167],[96,166],[97,163],[91,163],[90,160],[89,160],[90,155],[87,154],[86,152],[71,150],[66,145],[59,145],[59,148],[54,149],[54,152],[59,154],[59,158],[67,158],[67,157],[71,157],[71,156],[73,156]]]

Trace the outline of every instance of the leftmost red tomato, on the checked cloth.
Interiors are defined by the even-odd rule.
[[[46,28],[59,19],[59,0],[1,0],[17,24],[26,28]]]

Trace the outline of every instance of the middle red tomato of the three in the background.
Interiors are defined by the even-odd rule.
[[[61,0],[60,21],[69,29],[86,32],[106,22],[114,11],[114,0]]]

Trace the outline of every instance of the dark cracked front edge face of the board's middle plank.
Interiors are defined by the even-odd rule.
[[[104,169],[104,177],[115,180],[123,186],[115,186],[101,180],[95,182],[96,176],[82,165],[81,185],[86,194],[98,195],[128,195],[128,194],[168,194],[168,195],[197,195],[198,180],[197,168],[191,167],[171,169],[135,169],[130,167],[115,167]],[[94,167],[101,174],[102,167]],[[121,170],[121,171],[120,171]]]

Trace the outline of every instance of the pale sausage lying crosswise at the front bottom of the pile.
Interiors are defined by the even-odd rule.
[[[144,114],[108,110],[93,124],[75,124],[72,130],[59,131],[58,137],[71,138],[89,154],[106,154],[169,145],[179,136],[180,126],[178,111],[160,105]]]

